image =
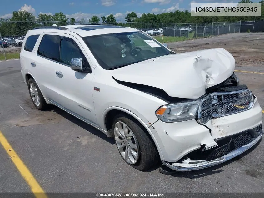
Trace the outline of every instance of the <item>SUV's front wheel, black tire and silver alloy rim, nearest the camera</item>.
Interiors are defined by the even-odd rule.
[[[159,155],[143,126],[125,114],[117,115],[114,120],[114,138],[123,160],[141,171],[156,165]]]

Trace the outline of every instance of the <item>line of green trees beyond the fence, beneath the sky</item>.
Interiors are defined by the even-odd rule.
[[[253,3],[250,0],[242,0],[239,3]],[[25,35],[28,30],[38,26],[52,26],[54,21],[58,26],[62,25],[75,25],[75,24],[88,24],[89,23],[111,23],[118,26],[131,26],[134,28],[147,28],[144,23],[149,24],[148,27],[155,26],[161,28],[161,25],[154,23],[212,23],[212,22],[235,22],[235,21],[259,21],[264,20],[264,0],[260,1],[262,4],[261,16],[191,16],[191,12],[179,11],[169,13],[144,13],[141,17],[138,17],[135,12],[128,13],[125,17],[125,23],[116,21],[113,14],[108,16],[92,16],[90,19],[84,18],[76,21],[75,18],[67,18],[62,12],[55,13],[54,15],[40,13],[37,17],[30,12],[26,11],[14,11],[10,19],[0,18],[0,31],[3,36],[7,35]],[[8,23],[5,23],[8,21]],[[13,22],[12,22],[13,21]],[[22,21],[16,23],[15,21]],[[137,23],[133,23],[137,22]],[[166,24],[164,24],[166,26]]]

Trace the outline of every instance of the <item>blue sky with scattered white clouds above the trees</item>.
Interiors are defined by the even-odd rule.
[[[252,0],[259,2],[260,0]],[[88,21],[93,15],[98,17],[113,14],[117,22],[124,22],[127,13],[174,12],[190,10],[191,3],[237,3],[239,0],[12,0],[2,3],[0,18],[11,18],[15,10],[26,10],[38,16],[39,13],[55,14],[63,12],[67,18]]]

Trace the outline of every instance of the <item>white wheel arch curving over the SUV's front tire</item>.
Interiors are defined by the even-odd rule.
[[[161,148],[157,142],[157,139],[155,138],[155,136],[153,135],[152,131],[149,129],[149,127],[147,126],[147,124],[140,119],[136,114],[134,114],[133,112],[129,111],[128,109],[124,109],[122,107],[117,107],[117,106],[112,106],[107,108],[102,115],[103,121],[104,121],[104,127],[106,128],[107,131],[112,130],[112,123],[113,123],[113,118],[115,117],[115,115],[117,114],[127,114],[129,116],[132,116],[134,119],[136,119],[145,129],[145,131],[147,131],[147,135],[151,138],[151,140],[154,142],[155,147],[157,148],[157,151],[159,153],[159,156],[161,159],[163,159],[163,155],[162,155],[162,151]],[[113,132],[112,132],[113,134]]]

